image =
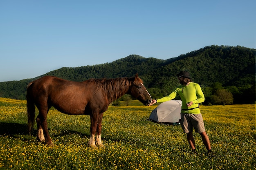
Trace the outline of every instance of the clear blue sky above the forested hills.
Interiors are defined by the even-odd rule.
[[[0,82],[130,54],[256,48],[255,0],[0,0]]]

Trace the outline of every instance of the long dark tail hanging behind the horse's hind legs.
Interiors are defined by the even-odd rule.
[[[35,122],[35,103],[34,100],[31,97],[31,84],[33,82],[29,83],[27,86],[27,117],[28,117],[28,128],[29,128],[29,134],[31,135],[31,131],[34,129],[34,122]]]

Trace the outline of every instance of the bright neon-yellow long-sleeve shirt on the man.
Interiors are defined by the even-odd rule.
[[[200,109],[196,108],[202,102],[204,102],[204,93],[202,92],[201,87],[197,83],[190,82],[187,86],[179,86],[176,88],[170,95],[157,99],[157,102],[166,102],[168,100],[174,99],[177,95],[180,95],[182,100],[182,110],[181,113],[192,113],[200,114]],[[193,102],[193,104],[188,107],[186,103]],[[192,110],[188,110],[195,108]]]

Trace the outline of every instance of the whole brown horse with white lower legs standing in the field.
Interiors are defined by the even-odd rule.
[[[124,94],[130,94],[144,105],[149,105],[152,98],[142,80],[138,77],[115,79],[88,79],[84,82],[72,82],[58,77],[45,76],[27,87],[27,115],[29,132],[34,127],[35,105],[39,110],[36,117],[37,138],[53,146],[47,130],[47,113],[53,106],[58,111],[69,115],[90,115],[89,146],[103,146],[101,142],[101,121],[103,113],[111,102]],[[96,144],[95,144],[95,133]]]

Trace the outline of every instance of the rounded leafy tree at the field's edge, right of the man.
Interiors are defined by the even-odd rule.
[[[234,98],[232,93],[225,89],[219,89],[215,92],[211,97],[211,101],[213,104],[222,104],[225,106],[226,104],[233,104]]]

